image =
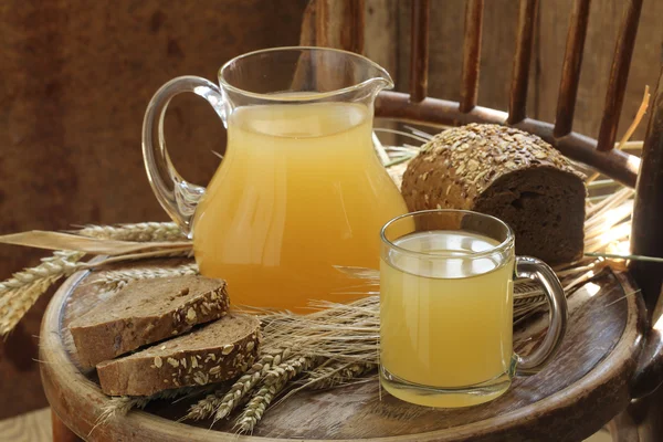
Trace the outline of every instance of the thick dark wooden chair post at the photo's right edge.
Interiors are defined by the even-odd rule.
[[[633,207],[631,251],[663,257],[663,67],[650,113]],[[661,295],[663,264],[631,261],[631,272],[653,314]]]

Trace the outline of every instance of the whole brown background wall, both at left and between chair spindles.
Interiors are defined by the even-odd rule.
[[[307,0],[4,0],[0,2],[0,234],[73,223],[166,220],[140,155],[145,107],[166,81],[215,78],[241,53],[297,44]],[[505,109],[517,1],[487,0],[478,103]],[[572,0],[540,0],[528,112],[555,115]],[[430,95],[457,99],[463,0],[432,0]],[[593,0],[575,130],[596,137],[623,0]],[[410,0],[366,0],[366,54],[407,90]],[[663,54],[663,2],[645,0],[620,133]],[[634,139],[641,139],[644,124]],[[176,98],[167,139],[182,175],[206,183],[224,129],[194,96]],[[0,278],[39,252],[0,246]],[[36,357],[42,298],[0,341],[0,419],[45,406]]]

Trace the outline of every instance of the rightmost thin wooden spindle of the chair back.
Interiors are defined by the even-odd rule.
[[[614,56],[612,57],[612,67],[610,69],[610,82],[608,83],[608,93],[606,94],[603,117],[601,118],[601,128],[599,129],[597,148],[600,151],[607,151],[614,147],[641,10],[642,0],[630,0],[619,30]]]

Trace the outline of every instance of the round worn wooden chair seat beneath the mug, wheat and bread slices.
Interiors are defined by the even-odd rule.
[[[177,265],[182,260],[131,264]],[[126,269],[128,265],[125,265]],[[116,270],[117,267],[115,267]],[[120,267],[123,269],[123,267]],[[157,401],[95,427],[108,398],[94,372],[78,369],[67,324],[94,306],[103,272],[81,272],[54,295],[41,329],[43,386],[52,410],[90,441],[573,441],[598,431],[629,402],[628,380],[641,346],[643,307],[625,274],[604,271],[569,298],[569,328],[555,360],[517,378],[497,400],[465,409],[435,410],[401,402],[377,381],[322,392],[301,392],[270,409],[251,436],[232,432],[232,417],[217,423],[177,422],[191,401]],[[515,330],[528,351],[545,333],[546,317]],[[477,325],[478,326],[478,325]],[[450,360],[449,364],[453,364]]]

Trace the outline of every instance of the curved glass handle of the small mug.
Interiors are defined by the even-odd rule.
[[[559,350],[566,333],[568,307],[564,288],[552,269],[545,262],[530,256],[516,256],[516,276],[537,281],[543,287],[550,309],[549,326],[544,341],[530,355],[518,356],[516,375],[529,376],[539,372]]]

